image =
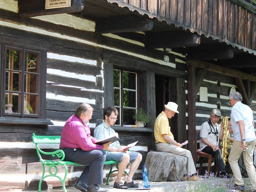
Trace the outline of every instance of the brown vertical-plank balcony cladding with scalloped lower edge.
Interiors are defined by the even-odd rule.
[[[240,0],[107,0],[244,51],[256,50],[255,7]]]

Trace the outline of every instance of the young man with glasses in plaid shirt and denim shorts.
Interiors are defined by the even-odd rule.
[[[109,137],[110,135],[113,135],[115,133],[115,131],[110,126],[113,126],[116,123],[118,116],[117,109],[115,107],[105,108],[103,111],[103,115],[104,122],[94,129],[94,137],[97,140],[103,140],[104,138]],[[106,161],[120,162],[117,172],[117,178],[114,183],[114,188],[138,188],[138,183],[134,183],[132,177],[142,160],[142,155],[134,151],[124,151],[123,149],[121,149],[119,141],[110,143],[108,149],[106,149],[106,153]],[[130,172],[126,181],[123,184],[123,182],[121,181],[121,177],[130,161],[132,161]]]

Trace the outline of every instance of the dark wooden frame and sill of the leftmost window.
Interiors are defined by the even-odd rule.
[[[38,125],[51,125],[52,122],[50,120],[46,120],[46,60],[47,60],[47,52],[41,50],[40,47],[35,49],[33,45],[33,49],[26,46],[20,46],[21,44],[18,43],[19,46],[15,46],[13,43],[3,43],[0,44],[0,124],[38,124]],[[15,114],[6,114],[4,112],[5,106],[5,66],[6,66],[6,50],[13,49],[13,50],[21,50],[22,51],[22,58],[21,59],[21,76],[20,79],[22,81],[19,83],[21,86],[20,94],[21,98],[19,99],[19,103],[21,104],[20,113]],[[23,107],[24,107],[24,81],[25,81],[25,60],[26,60],[26,53],[35,53],[38,55],[38,91],[36,95],[38,95],[38,103],[37,103],[37,112],[38,114],[24,114]],[[27,72],[26,72],[27,73]],[[34,95],[34,93],[29,93],[29,95]]]

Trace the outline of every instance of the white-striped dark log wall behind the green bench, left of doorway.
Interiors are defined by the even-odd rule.
[[[140,62],[143,67],[137,66],[137,69],[140,72],[147,71],[147,77],[155,72],[168,76],[172,70],[176,70],[176,66],[186,68],[185,56],[179,53],[164,52],[163,49],[146,50],[143,32],[101,35],[94,32],[94,21],[82,18],[80,14],[27,18],[17,14],[17,6],[15,0],[11,0],[11,4],[10,1],[0,3],[0,42],[8,44],[10,41],[12,46],[15,43],[25,44],[26,48],[33,46],[32,41],[37,42],[37,46],[47,43],[46,119],[51,120],[53,125],[0,124],[0,189],[3,190],[38,187],[42,167],[31,141],[31,133],[59,135],[68,117],[74,114],[82,102],[94,108],[90,121],[93,134],[93,128],[102,122],[102,108],[108,97],[104,95],[104,79],[108,76],[104,74],[104,69],[109,62],[124,69],[129,62],[130,65]],[[14,42],[14,37],[19,42]],[[163,60],[164,55],[170,57],[169,62]],[[119,60],[115,60],[115,57],[120,58],[120,63],[117,63]],[[175,73],[179,75],[179,71],[185,81],[186,73],[182,70],[172,72],[172,76]],[[146,79],[144,83],[148,83]],[[156,115],[152,118],[153,122]],[[145,162],[149,146],[154,143],[148,139],[152,136],[152,126],[148,128],[151,131],[147,128],[137,132],[118,131],[123,146],[139,140],[135,150],[143,155],[141,165]],[[58,147],[50,145],[45,148]],[[137,174],[140,174],[140,169]],[[70,174],[66,184],[71,185],[79,177],[82,168],[69,167],[68,171]],[[108,167],[105,167],[104,173],[107,172]],[[59,180],[49,180],[49,183],[61,185]]]

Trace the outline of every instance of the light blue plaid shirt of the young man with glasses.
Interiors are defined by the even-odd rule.
[[[113,135],[115,133],[114,129],[111,127],[108,128],[105,122],[102,124],[99,124],[95,129],[94,129],[94,137],[97,140],[103,140],[106,137],[109,137],[110,135]],[[109,144],[110,148],[120,148],[120,143],[119,141],[115,141],[114,143]],[[108,151],[106,151],[108,153]]]

